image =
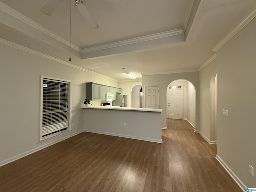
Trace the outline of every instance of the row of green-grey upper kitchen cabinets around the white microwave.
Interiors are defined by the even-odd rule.
[[[116,93],[122,93],[121,88],[97,84],[93,82],[86,83],[86,98],[89,100],[106,100],[106,93],[113,93],[114,100]]]

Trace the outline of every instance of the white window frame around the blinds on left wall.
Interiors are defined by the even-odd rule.
[[[48,136],[44,136],[42,134],[43,131],[43,87],[44,87],[44,79],[48,79],[48,80],[52,80],[52,81],[60,81],[60,82],[68,82],[69,84],[69,92],[68,92],[68,128],[66,130],[60,131],[60,132],[56,132],[53,134],[50,134]],[[70,130],[72,130],[72,81],[71,80],[66,80],[66,79],[61,79],[61,78],[55,78],[55,77],[49,77],[49,76],[44,76],[41,75],[41,98],[40,98],[40,141],[42,140],[46,140],[48,138],[53,138],[56,137],[60,134],[64,134],[66,132],[69,132]]]

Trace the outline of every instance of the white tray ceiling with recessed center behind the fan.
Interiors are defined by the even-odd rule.
[[[63,0],[50,16],[39,11],[46,0],[0,2],[0,38],[32,48],[32,43],[15,37],[22,34],[38,45],[56,47],[48,53],[56,58],[62,59],[59,50],[68,53],[70,0]],[[141,74],[198,70],[256,1],[84,0],[84,4],[99,28],[88,26],[72,0],[72,64],[122,81],[129,79],[126,72],[141,78]]]

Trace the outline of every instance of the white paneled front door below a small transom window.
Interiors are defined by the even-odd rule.
[[[168,118],[182,119],[182,90],[168,90]]]

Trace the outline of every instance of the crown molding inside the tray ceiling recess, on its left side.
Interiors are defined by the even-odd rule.
[[[30,18],[20,14],[19,12],[17,12],[16,10],[10,8],[9,6],[7,6],[6,4],[3,4],[2,2],[0,2],[0,10],[2,12],[5,12],[6,14],[16,18],[17,20],[20,20],[21,22],[23,22],[24,24],[27,24],[28,26],[35,28],[36,30],[58,40],[59,42],[70,46],[70,42],[65,40],[64,38],[58,36],[57,34],[51,32],[50,30],[48,30],[47,28],[39,25],[38,23],[34,22],[33,20],[31,20]],[[18,30],[18,29],[17,29]],[[73,48],[74,50],[77,50],[78,52],[81,52],[81,48],[79,48],[78,46],[75,46],[74,44],[71,44],[71,48]]]

